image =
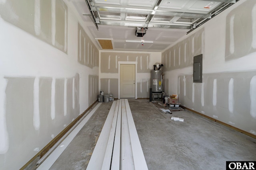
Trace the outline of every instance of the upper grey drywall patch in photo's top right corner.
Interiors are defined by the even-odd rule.
[[[253,0],[226,16],[226,57],[231,60],[256,52],[256,6]]]

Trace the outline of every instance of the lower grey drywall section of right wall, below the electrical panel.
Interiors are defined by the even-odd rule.
[[[256,72],[204,74],[203,83],[193,83],[192,75],[179,76],[179,102],[254,135],[256,112]]]

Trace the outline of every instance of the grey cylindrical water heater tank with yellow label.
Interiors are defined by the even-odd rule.
[[[163,72],[161,70],[151,71],[151,88],[153,93],[162,92]]]

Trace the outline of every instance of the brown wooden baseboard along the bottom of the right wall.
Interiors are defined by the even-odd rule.
[[[240,133],[243,133],[244,135],[247,135],[247,136],[249,136],[249,137],[252,137],[252,138],[256,139],[256,135],[253,135],[252,133],[246,132],[246,131],[244,131],[244,130],[242,130],[242,129],[238,129],[237,127],[231,126],[231,125],[229,125],[229,124],[227,124],[227,123],[224,123],[224,122],[222,122],[222,121],[219,121],[219,120],[217,120],[217,119],[214,119],[214,118],[212,118],[212,117],[209,117],[209,116],[207,116],[207,115],[204,115],[204,114],[202,114],[202,113],[199,113],[199,112],[194,111],[194,110],[192,110],[192,109],[189,109],[189,108],[187,108],[187,107],[184,107],[184,106],[180,106],[180,107],[182,107],[183,109],[187,109],[187,110],[189,110],[189,111],[191,111],[191,112],[193,112],[193,113],[196,113],[196,114],[198,114],[198,115],[200,115],[200,116],[206,117],[207,119],[210,119],[210,120],[212,120],[212,121],[215,121],[215,122],[217,122],[217,123],[220,123],[220,124],[222,124],[222,125],[224,125],[224,126],[226,126],[226,127],[229,127],[229,128],[231,128],[231,129],[235,130],[235,131],[238,131],[238,132],[240,132]]]

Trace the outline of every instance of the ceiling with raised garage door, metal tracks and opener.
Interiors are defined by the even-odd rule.
[[[158,52],[237,1],[72,0],[101,49]]]

